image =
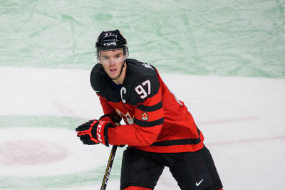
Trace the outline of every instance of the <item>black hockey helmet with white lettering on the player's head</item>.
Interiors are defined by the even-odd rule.
[[[123,48],[123,53],[127,55],[127,57],[129,54],[127,40],[118,29],[115,31],[103,31],[100,33],[99,37],[97,38],[95,48],[97,58],[100,56],[100,51],[118,48]]]

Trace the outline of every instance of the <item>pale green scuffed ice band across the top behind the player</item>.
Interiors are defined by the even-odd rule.
[[[0,1],[0,64],[90,69],[101,31],[163,72],[285,76],[284,1]]]

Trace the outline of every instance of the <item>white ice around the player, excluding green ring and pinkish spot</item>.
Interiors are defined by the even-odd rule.
[[[102,110],[90,87],[89,73],[88,70],[1,67],[0,116],[98,118]],[[204,143],[212,153],[224,189],[285,189],[284,79],[161,75],[172,92],[185,102],[203,132]],[[15,139],[52,142],[66,149],[68,157],[24,166],[0,163],[0,177],[56,176],[94,167],[105,170],[110,152],[110,148],[103,145],[81,144],[74,131],[25,128],[21,127],[21,120],[18,126],[0,127],[2,147]],[[25,157],[27,153],[21,154]],[[122,151],[118,151],[116,158],[120,159],[121,154]],[[0,160],[1,157],[3,155]],[[78,165],[83,161],[85,164]],[[103,176],[104,171],[100,172]],[[111,178],[107,188],[119,189],[119,186],[119,179]],[[96,182],[56,189],[99,187],[100,182]],[[31,186],[30,189],[38,188]],[[178,189],[167,169],[155,189]]]

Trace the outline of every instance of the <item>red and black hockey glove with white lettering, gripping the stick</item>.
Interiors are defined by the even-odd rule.
[[[98,144],[99,142],[109,147],[108,128],[115,127],[110,121],[90,120],[76,128],[77,137],[83,144]]]

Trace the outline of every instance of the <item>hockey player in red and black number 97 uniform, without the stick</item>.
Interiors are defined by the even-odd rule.
[[[202,132],[157,69],[129,59],[118,30],[100,33],[95,47],[99,63],[90,83],[105,115],[76,131],[84,144],[128,144],[120,189],[154,189],[165,167],[180,189],[222,189]],[[125,125],[118,125],[121,118]]]

